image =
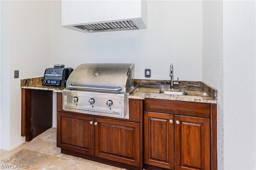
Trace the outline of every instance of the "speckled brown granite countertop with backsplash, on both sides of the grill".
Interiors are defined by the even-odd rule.
[[[44,86],[43,77],[20,80],[20,87],[24,89],[51,90],[62,93],[65,87]],[[174,86],[176,90],[186,91],[188,95],[168,95],[159,93],[160,89],[170,90],[170,80],[148,80],[134,79],[134,84],[138,85],[132,93],[130,99],[165,99],[176,101],[190,101],[200,103],[217,103],[217,90],[201,81],[179,81]]]

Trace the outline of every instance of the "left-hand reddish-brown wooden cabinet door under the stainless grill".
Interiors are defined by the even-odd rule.
[[[57,113],[57,146],[94,155],[94,117]]]

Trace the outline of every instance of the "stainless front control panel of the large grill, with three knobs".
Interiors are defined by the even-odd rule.
[[[125,103],[128,104],[128,96],[126,94],[64,89],[62,95],[63,109],[66,111],[129,119],[129,107],[125,105]],[[89,103],[90,99],[94,99],[93,104]],[[108,107],[107,101],[112,101],[113,104]]]

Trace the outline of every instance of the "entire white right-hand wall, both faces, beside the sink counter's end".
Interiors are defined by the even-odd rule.
[[[218,89],[218,169],[256,169],[256,2],[203,2],[203,77]]]

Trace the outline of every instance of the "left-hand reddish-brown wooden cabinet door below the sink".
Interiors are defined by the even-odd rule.
[[[144,112],[144,163],[174,169],[174,116]]]

